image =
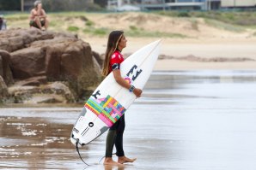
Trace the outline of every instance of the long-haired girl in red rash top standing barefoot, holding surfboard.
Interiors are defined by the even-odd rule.
[[[107,40],[107,50],[105,54],[105,60],[103,63],[103,76],[107,76],[113,72],[114,79],[116,82],[125,87],[127,91],[133,92],[136,97],[140,97],[142,90],[137,89],[133,85],[130,85],[121,77],[120,64],[124,61],[124,57],[121,51],[126,47],[127,39],[122,31],[110,32]],[[123,149],[123,134],[125,131],[125,114],[112,126],[107,133],[106,142],[106,154],[105,154],[105,165],[119,165],[126,162],[133,162],[136,158],[128,158],[125,156]],[[116,147],[116,155],[119,157],[118,161],[113,161],[113,145]]]

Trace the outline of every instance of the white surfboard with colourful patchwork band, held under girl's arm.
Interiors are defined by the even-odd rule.
[[[161,40],[137,50],[121,63],[121,76],[131,85],[143,89],[160,52]],[[71,132],[71,143],[88,144],[101,136],[125,114],[136,96],[119,85],[110,73],[97,87],[76,120]]]

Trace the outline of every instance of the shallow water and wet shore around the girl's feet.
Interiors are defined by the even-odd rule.
[[[70,144],[81,108],[0,108],[1,169],[255,169],[256,71],[155,72],[125,113],[125,155],[104,167],[103,134]],[[114,159],[116,157],[114,156]]]

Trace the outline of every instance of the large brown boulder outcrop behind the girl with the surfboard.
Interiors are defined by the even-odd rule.
[[[29,98],[41,103],[39,96],[46,103],[70,103],[85,97],[101,81],[102,61],[95,54],[88,43],[68,33],[35,28],[0,32],[0,75],[18,103]],[[65,90],[46,91],[55,89],[57,82],[64,83],[58,86]]]

